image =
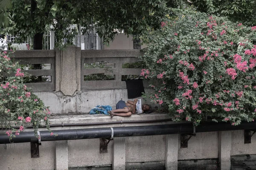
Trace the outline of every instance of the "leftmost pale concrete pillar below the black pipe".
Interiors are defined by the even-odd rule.
[[[68,170],[67,141],[55,141],[55,170]]]

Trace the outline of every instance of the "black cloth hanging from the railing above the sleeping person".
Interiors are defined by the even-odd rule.
[[[142,96],[142,92],[145,93],[142,79],[126,80],[126,88],[128,93],[128,99],[134,99]]]

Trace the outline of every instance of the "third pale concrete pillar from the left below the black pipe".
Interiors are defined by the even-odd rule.
[[[179,134],[166,135],[165,169],[178,169]]]

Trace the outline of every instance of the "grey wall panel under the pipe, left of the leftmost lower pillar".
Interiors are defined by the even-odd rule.
[[[1,170],[53,170],[54,143],[42,142],[40,158],[31,158],[30,143],[0,144]]]

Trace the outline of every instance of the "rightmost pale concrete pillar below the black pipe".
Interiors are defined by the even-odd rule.
[[[221,170],[230,170],[230,152],[231,152],[231,131],[220,131],[218,142],[218,159]]]

